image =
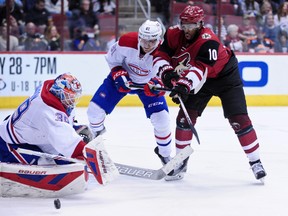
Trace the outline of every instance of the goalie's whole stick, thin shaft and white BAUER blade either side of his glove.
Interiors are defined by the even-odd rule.
[[[18,148],[15,151],[22,154],[35,155],[39,157],[45,157],[55,160],[63,160],[72,163],[85,163],[85,161],[69,158],[61,155],[53,155],[43,152],[37,152],[28,149]],[[167,164],[161,167],[158,170],[147,169],[141,167],[130,166],[126,164],[114,163],[117,167],[118,171],[122,175],[128,175],[133,177],[139,177],[144,179],[152,179],[152,180],[160,180],[164,178],[168,173],[174,170],[177,166],[179,166],[187,157],[189,157],[193,153],[193,149],[190,146],[182,149],[178,154],[175,155]]]

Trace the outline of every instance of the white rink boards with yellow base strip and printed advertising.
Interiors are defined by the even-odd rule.
[[[287,55],[238,54],[240,76],[249,106],[287,106]],[[96,89],[109,74],[105,53],[1,53],[0,108],[14,108],[33,94],[46,79],[71,72],[82,83],[83,97],[79,106],[87,106]],[[174,105],[167,96],[169,105]],[[119,106],[140,106],[137,96],[127,96]],[[219,106],[212,98],[209,106]]]

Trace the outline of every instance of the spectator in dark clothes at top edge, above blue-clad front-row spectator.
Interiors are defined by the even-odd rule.
[[[80,10],[72,11],[72,16],[69,18],[70,37],[74,38],[75,28],[85,28],[87,32],[94,31],[98,25],[98,17],[95,12],[91,10],[90,1],[82,0]]]

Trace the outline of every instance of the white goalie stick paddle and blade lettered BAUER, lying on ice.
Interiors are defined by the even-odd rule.
[[[190,146],[185,147],[178,154],[175,155],[167,164],[158,170],[146,169],[135,166],[129,166],[125,164],[115,163],[118,171],[122,175],[138,177],[143,179],[161,180],[168,173],[179,166],[187,157],[193,153],[193,149]]]

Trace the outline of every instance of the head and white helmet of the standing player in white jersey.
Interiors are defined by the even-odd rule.
[[[146,20],[138,31],[139,44],[145,53],[152,52],[159,45],[162,28],[157,21]]]

